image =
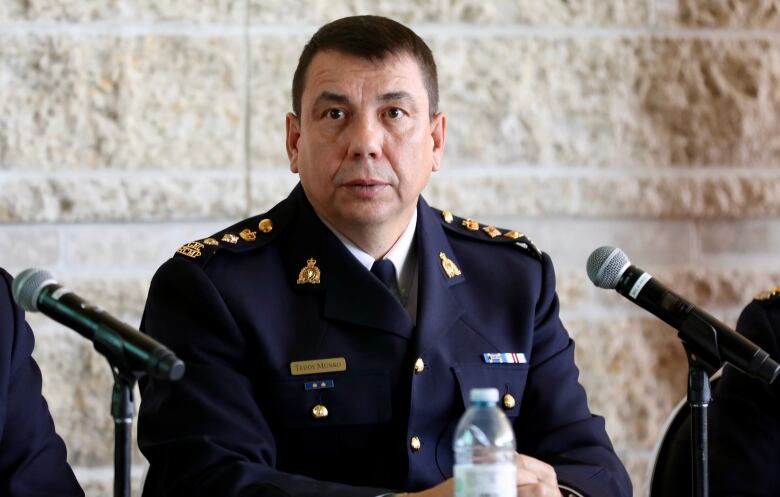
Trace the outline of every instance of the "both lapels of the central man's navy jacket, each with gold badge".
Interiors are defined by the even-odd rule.
[[[464,305],[455,287],[466,280],[466,274],[448,274],[448,267],[461,265],[450,245],[442,219],[422,197],[417,204],[417,222],[412,246],[416,251],[419,274],[417,326],[401,303],[314,212],[300,184],[291,197],[298,204],[297,219],[287,237],[284,256],[289,277],[296,290],[324,293],[323,315],[335,319],[385,330],[412,340],[418,356],[441,341],[463,315]],[[408,256],[415,257],[415,256]],[[316,259],[321,279],[318,284],[297,284],[296,278],[308,259]]]

